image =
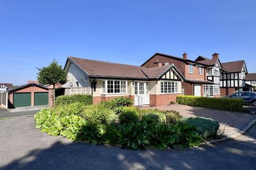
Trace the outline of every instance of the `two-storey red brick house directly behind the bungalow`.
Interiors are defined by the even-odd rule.
[[[182,57],[156,53],[141,66],[150,68],[166,64],[174,64],[185,77],[185,81],[182,82],[182,94],[220,97],[219,54],[214,53],[211,60],[199,56],[196,61],[193,61],[188,60],[186,53]]]

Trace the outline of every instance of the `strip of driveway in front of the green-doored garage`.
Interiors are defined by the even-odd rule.
[[[49,106],[18,107],[13,109],[0,108],[0,118],[35,115],[42,108],[47,107]]]

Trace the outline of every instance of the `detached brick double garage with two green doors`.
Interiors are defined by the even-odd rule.
[[[25,106],[53,106],[53,91],[37,83],[29,83],[8,91],[9,108]]]

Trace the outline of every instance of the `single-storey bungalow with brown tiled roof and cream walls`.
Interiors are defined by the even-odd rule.
[[[131,98],[135,106],[170,104],[182,94],[185,80],[172,63],[147,68],[68,57],[64,69],[68,82],[62,87],[85,89],[92,94],[94,104],[116,97]]]

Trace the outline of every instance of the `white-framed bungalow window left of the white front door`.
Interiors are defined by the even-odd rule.
[[[127,81],[105,80],[102,81],[102,94],[120,94],[127,92]]]

